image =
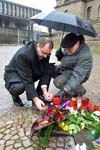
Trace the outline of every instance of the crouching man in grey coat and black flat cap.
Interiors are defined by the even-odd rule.
[[[56,53],[61,60],[61,64],[56,66],[58,76],[54,79],[54,85],[60,89],[57,94],[82,96],[86,92],[82,84],[88,80],[92,69],[90,48],[83,36],[74,33],[69,33],[63,38],[61,47],[64,51],[60,49]]]

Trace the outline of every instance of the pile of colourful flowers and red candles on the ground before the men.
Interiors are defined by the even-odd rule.
[[[95,147],[100,148],[99,107],[93,106],[88,98],[77,97],[67,100],[64,97],[60,100],[59,97],[55,97],[53,103],[47,106],[47,109],[33,123],[31,139],[38,132],[39,145],[44,147],[54,130],[62,130],[67,135],[74,135],[83,129],[87,129],[89,132],[87,138],[94,141]]]

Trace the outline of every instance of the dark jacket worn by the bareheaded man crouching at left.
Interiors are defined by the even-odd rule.
[[[5,67],[4,80],[9,89],[11,83],[23,82],[28,99],[37,96],[34,82],[41,78],[41,85],[48,84],[50,71],[48,71],[49,57],[38,59],[34,42],[20,48],[10,63]],[[45,72],[44,70],[47,70]]]

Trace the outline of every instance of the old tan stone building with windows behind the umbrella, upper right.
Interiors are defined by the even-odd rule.
[[[100,46],[100,0],[56,0],[55,9],[88,19],[97,32],[96,38],[86,37],[90,46]]]

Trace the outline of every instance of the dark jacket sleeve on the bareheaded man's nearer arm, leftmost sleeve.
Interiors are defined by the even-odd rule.
[[[25,85],[27,98],[29,100],[33,99],[37,96],[37,92],[35,90],[35,85],[32,78],[31,60],[27,56],[18,55],[16,57],[16,70]]]

